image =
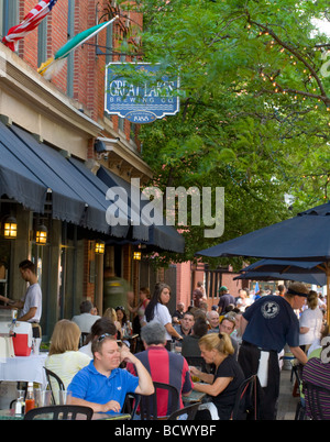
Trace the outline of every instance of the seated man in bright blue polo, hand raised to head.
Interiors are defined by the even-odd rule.
[[[152,395],[152,378],[143,364],[124,345],[119,349],[111,335],[103,334],[92,341],[94,361],[73,378],[68,390],[72,405],[90,407],[95,412],[120,412],[128,393]],[[122,361],[136,367],[138,377],[119,368]]]

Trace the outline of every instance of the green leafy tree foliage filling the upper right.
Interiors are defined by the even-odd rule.
[[[186,253],[168,258],[194,258],[328,199],[330,44],[316,22],[330,30],[328,1],[138,0],[121,8],[144,14],[143,60],[180,78],[179,113],[140,132],[157,185],[226,192],[223,235],[206,239],[204,225],[186,226]]]

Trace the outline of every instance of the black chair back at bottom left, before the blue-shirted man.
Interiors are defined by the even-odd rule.
[[[24,420],[90,420],[94,411],[89,407],[82,406],[50,406],[33,408],[24,415]]]

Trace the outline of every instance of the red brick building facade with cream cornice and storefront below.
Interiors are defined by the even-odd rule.
[[[36,3],[37,0],[1,0],[2,36]],[[77,47],[51,80],[37,73],[41,63],[53,57],[68,38],[117,14],[120,18]],[[124,13],[113,1],[58,0],[38,27],[19,42],[15,53],[0,44],[3,70],[0,80],[1,123],[4,122],[10,131],[13,126],[21,128],[26,131],[26,136],[33,134],[38,143],[52,146],[56,154],[78,159],[88,173],[96,174],[95,170],[105,167],[125,181],[134,176],[142,181],[151,179],[152,170],[140,156],[138,126],[117,115],[106,114],[103,104],[106,64],[119,59],[131,62],[120,52],[119,42],[134,35],[132,23],[142,26],[142,16]],[[98,155],[95,150],[98,137],[110,140],[107,156]],[[111,140],[117,141],[116,145],[111,145]],[[1,167],[0,159],[0,173]],[[37,176],[37,172],[32,173]],[[61,217],[53,219],[51,214],[36,213],[8,198],[4,191],[1,194],[1,218],[11,210],[19,225],[15,241],[9,243],[0,237],[1,258],[8,273],[0,290],[10,297],[21,297],[25,287],[16,275],[18,262],[29,257],[38,263],[44,307],[42,327],[46,335],[52,333],[58,319],[78,313],[84,299],[90,299],[102,312],[106,265],[116,267],[118,276],[131,281],[139,292],[140,268],[132,258],[134,244],[122,243],[122,237],[118,237],[120,245],[107,244],[105,234],[97,230],[86,230],[63,221]],[[105,205],[103,201],[100,203]],[[35,222],[40,219],[48,228],[45,246],[37,245],[34,239]],[[106,241],[105,255],[96,253],[95,245],[99,240]]]

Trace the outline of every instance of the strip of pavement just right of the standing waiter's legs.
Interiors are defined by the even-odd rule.
[[[293,397],[294,384],[290,383],[292,372],[282,369],[279,398],[276,420],[295,420],[298,398]]]

